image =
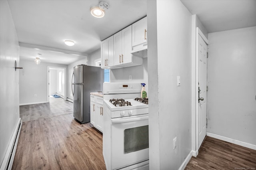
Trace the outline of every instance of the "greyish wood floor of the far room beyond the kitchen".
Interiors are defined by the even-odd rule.
[[[49,98],[49,103],[20,106],[22,122],[73,113],[73,103],[62,98]]]

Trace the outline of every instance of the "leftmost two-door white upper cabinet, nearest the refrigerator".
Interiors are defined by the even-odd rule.
[[[114,65],[114,36],[101,42],[101,68]]]

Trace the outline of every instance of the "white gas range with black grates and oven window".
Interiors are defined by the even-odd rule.
[[[104,83],[103,156],[108,170],[148,170],[148,99],[140,83]]]

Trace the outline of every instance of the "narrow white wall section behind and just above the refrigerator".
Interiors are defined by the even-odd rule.
[[[87,57],[84,57],[83,59],[80,59],[74,63],[71,63],[68,65],[68,79],[67,79],[67,87],[68,87],[68,95],[67,97],[69,99],[73,100],[73,95],[72,95],[72,89],[71,89],[71,79],[72,79],[72,74],[73,74],[73,67],[76,65],[84,64],[87,65]]]

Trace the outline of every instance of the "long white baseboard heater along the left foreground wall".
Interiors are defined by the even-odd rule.
[[[0,170],[11,170],[12,164],[14,160],[14,156],[16,153],[16,148],[18,145],[18,140],[20,136],[20,130],[22,126],[22,119],[19,118],[16,124],[16,127],[14,129],[14,132],[12,134],[12,138],[10,140],[9,146],[7,148],[7,151],[4,156],[4,160],[1,164]]]

